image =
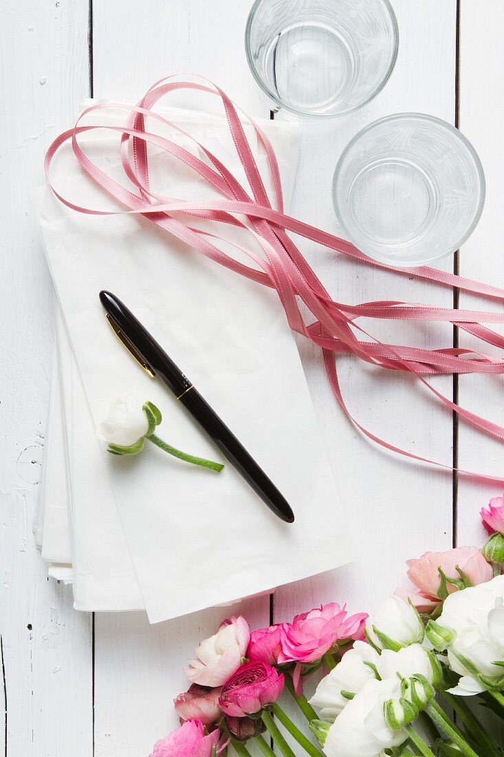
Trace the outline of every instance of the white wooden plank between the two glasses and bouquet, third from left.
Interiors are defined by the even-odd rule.
[[[362,126],[397,111],[421,111],[450,123],[454,120],[456,2],[395,0],[394,9],[400,27],[400,53],[384,91],[355,114],[328,126],[307,126],[304,134],[294,214],[331,232],[339,231],[331,207],[334,167],[344,146]],[[301,248],[340,302],[390,298],[451,305],[449,290],[359,266],[304,241]],[[451,264],[449,260],[446,267]],[[450,328],[406,328],[394,326],[394,322],[363,325],[373,335],[396,344],[452,344]],[[425,550],[446,549],[452,538],[450,472],[412,464],[366,441],[331,396],[319,351],[305,341],[299,346],[355,535],[358,559],[331,574],[279,589],[274,600],[275,621],[288,620],[328,601],[347,602],[352,612],[372,611],[403,583],[407,558]],[[398,447],[451,463],[450,413],[441,410],[409,376],[386,373],[350,358],[338,364],[350,410],[367,428]],[[450,377],[438,378],[433,383],[451,397],[451,381]]]

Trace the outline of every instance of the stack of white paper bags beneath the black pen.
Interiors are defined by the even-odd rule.
[[[163,115],[193,133],[247,186],[225,119],[176,109]],[[92,123],[106,122],[117,123],[117,113],[100,111],[99,120],[93,114]],[[261,125],[275,147],[288,205],[299,131],[286,123]],[[269,191],[263,148],[250,125],[245,128]],[[160,133],[201,157],[175,130]],[[119,180],[118,137],[93,132],[81,141]],[[216,196],[185,165],[153,152],[151,182],[164,195]],[[83,175],[69,147],[52,176],[58,191],[79,204],[123,210]],[[151,622],[162,621],[347,562],[341,504],[275,292],[143,217],[81,215],[49,189],[37,194],[36,204],[58,317],[34,531],[49,575],[73,583],[76,609],[146,609]],[[219,233],[215,224],[195,225],[204,223]],[[226,226],[226,235],[250,245],[239,229]],[[138,394],[160,407],[161,438],[226,462],[170,391],[148,378],[114,338],[98,300],[101,289],[130,307],[232,428],[291,503],[293,525],[277,519],[229,463],[215,474],[152,444],[134,457],[107,454],[96,426],[110,400]]]

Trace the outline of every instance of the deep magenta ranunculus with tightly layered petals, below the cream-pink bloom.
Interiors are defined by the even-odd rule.
[[[226,715],[243,718],[276,702],[283,689],[283,673],[265,662],[245,662],[222,687],[219,706]]]

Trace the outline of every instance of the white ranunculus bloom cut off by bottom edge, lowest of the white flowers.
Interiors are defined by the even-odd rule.
[[[406,740],[403,729],[392,731],[384,718],[384,702],[399,699],[398,678],[367,681],[347,702],[328,730],[324,744],[327,757],[378,757]]]

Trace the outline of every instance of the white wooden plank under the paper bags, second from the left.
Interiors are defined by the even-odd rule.
[[[131,16],[120,0],[95,2],[94,94],[137,100],[162,76],[204,73],[251,113],[269,117],[248,72],[243,35],[249,3],[153,0]],[[174,98],[202,104],[213,98]],[[183,668],[194,647],[222,618],[242,612],[253,628],[267,625],[269,597],[149,626],[143,614],[95,617],[95,755],[148,754],[176,727],[172,699],[188,685]],[[255,753],[255,752],[254,752]]]

